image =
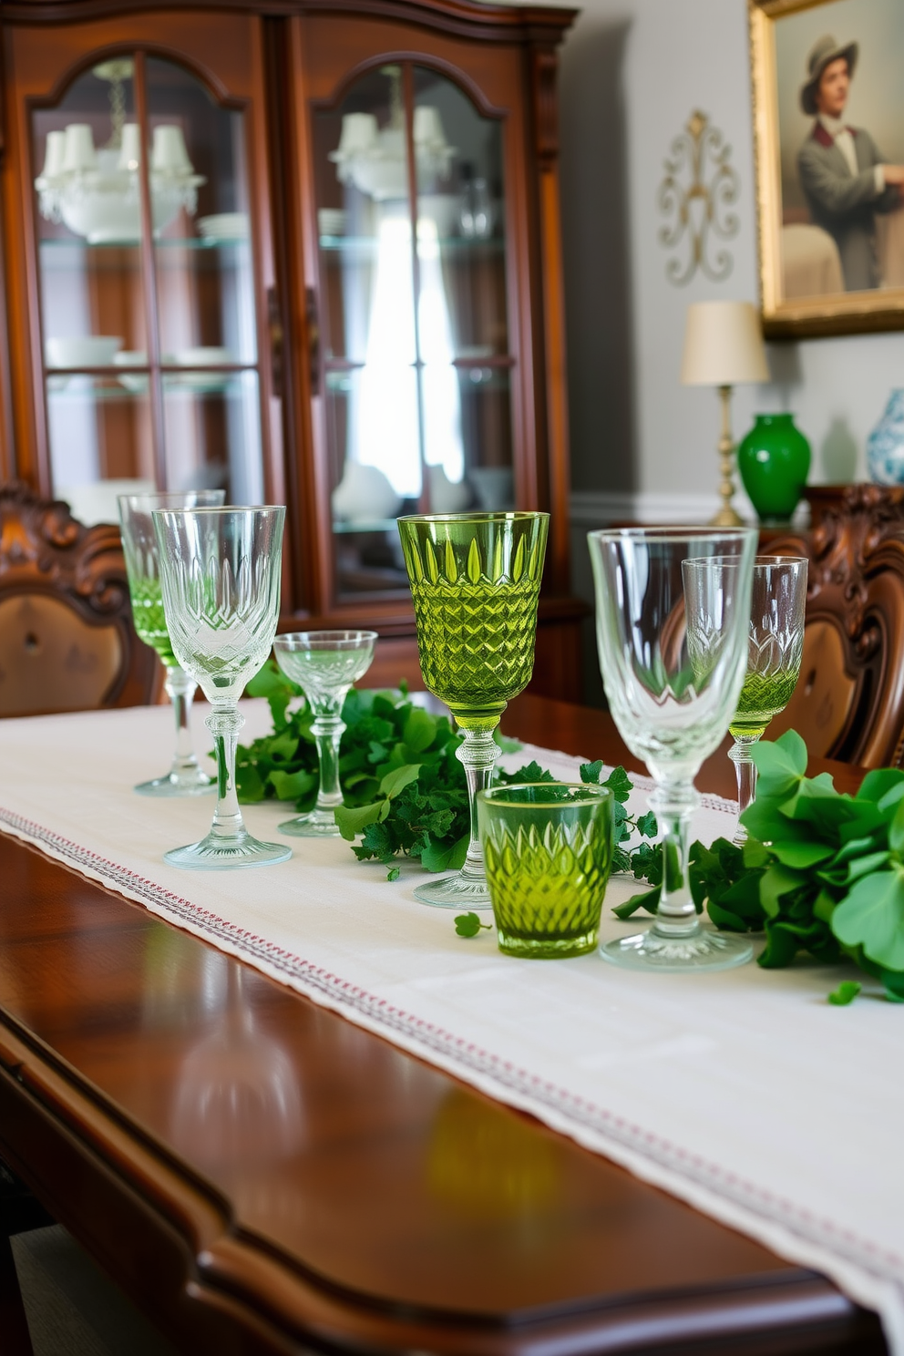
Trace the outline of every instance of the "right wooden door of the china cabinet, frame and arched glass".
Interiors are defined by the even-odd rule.
[[[291,54],[310,576],[321,612],[389,616],[398,514],[550,507],[530,57],[314,12]]]

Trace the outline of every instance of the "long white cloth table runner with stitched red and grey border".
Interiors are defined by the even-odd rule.
[[[245,738],[268,728],[263,702],[243,709]],[[163,772],[171,720],[137,708],[0,721],[0,829],[825,1272],[880,1311],[904,1356],[903,1008],[869,984],[832,1008],[839,972],[815,964],[644,975],[598,956],[515,960],[495,933],[459,938],[451,911],[419,904],[413,868],[390,884],[342,839],[291,839],[291,861],[258,871],[167,866],[164,850],[213,812],[211,797],[129,789]],[[209,743],[198,719],[197,746]],[[564,754],[507,763],[534,753],[576,777]],[[286,805],[247,807],[260,837],[283,818]],[[732,831],[726,803],[707,799],[693,835]],[[609,913],[634,888],[610,884],[606,938],[636,928]]]

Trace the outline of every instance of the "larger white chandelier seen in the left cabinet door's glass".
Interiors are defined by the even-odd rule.
[[[126,122],[123,81],[133,73],[129,58],[104,61],[94,75],[110,81],[112,136],[95,148],[87,122],[70,122],[62,132],[47,133],[43,170],[35,179],[38,203],[47,221],[62,221],[89,244],[141,239],[141,127]],[[159,236],[179,212],[194,216],[198,187],[206,183],[194,172],[182,127],[159,123],[150,149],[150,214]]]

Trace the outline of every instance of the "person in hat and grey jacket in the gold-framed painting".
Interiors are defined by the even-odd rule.
[[[869,132],[843,122],[858,45],[820,38],[809,54],[801,107],[816,118],[797,156],[801,187],[815,225],[827,231],[842,259],[847,292],[878,287],[876,213],[901,203],[904,165],[885,164]]]

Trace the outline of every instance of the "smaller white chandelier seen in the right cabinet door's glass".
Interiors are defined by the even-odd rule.
[[[401,92],[401,69],[385,66],[389,76],[389,122],[377,126],[373,113],[347,113],[342,119],[342,137],[329,159],[340,183],[352,183],[377,202],[408,197],[408,155],[405,146],[405,106]],[[455,148],[446,141],[439,108],[423,104],[415,108],[415,164],[417,191],[430,193],[439,179],[447,179]]]

